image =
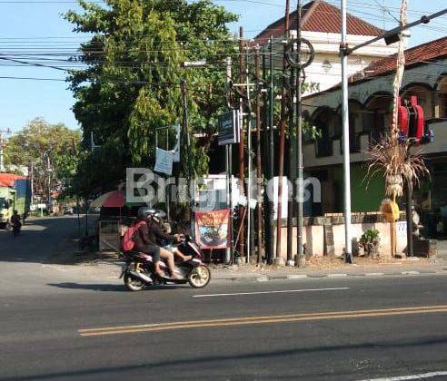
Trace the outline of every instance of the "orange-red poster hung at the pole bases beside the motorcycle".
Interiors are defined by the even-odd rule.
[[[230,247],[230,210],[196,211],[195,238],[202,249]]]

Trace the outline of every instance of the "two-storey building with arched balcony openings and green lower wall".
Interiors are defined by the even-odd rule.
[[[447,217],[447,37],[405,52],[406,65],[401,96],[416,95],[434,141],[418,146],[431,178],[415,192],[417,205]],[[352,209],[379,210],[384,192],[380,175],[368,174],[368,149],[392,122],[392,83],[396,56],[370,64],[351,77],[349,84],[349,126],[352,171]],[[305,139],[304,166],[307,175],[322,181],[322,202],[311,213],[343,210],[342,90],[340,85],[306,97],[303,117],[322,133],[321,139]]]

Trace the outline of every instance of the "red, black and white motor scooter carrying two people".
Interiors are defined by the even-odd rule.
[[[193,288],[204,288],[211,280],[211,271],[202,260],[202,251],[194,240],[186,235],[181,239],[177,248],[184,255],[193,258],[175,263],[175,271],[180,278],[169,276],[168,266],[162,259],[160,269],[163,276],[154,271],[154,261],[151,255],[139,251],[124,253],[124,269],[120,278],[124,278],[124,285],[130,291],[141,291],[146,286],[163,286],[167,283],[186,284]]]

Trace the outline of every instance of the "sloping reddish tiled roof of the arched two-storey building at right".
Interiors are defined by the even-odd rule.
[[[405,51],[405,67],[409,68],[414,64],[423,64],[425,61],[432,61],[441,58],[442,56],[447,56],[447,37],[442,37],[439,40],[434,40],[407,49]],[[389,55],[379,61],[374,61],[363,70],[364,74],[354,74],[353,80],[372,78],[378,75],[392,73],[396,70],[396,62],[396,54]]]

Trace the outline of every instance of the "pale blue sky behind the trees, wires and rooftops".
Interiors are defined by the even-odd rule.
[[[169,1],[169,0],[167,0]],[[293,9],[296,1],[292,0]],[[340,0],[327,0],[339,5]],[[253,37],[268,24],[283,16],[284,0],[214,0],[240,16],[238,23],[230,24],[232,31],[242,25],[245,36]],[[307,3],[307,0],[303,0]],[[396,26],[401,0],[348,0],[348,12],[372,24],[390,29]],[[386,10],[383,9],[385,6]],[[409,0],[409,21],[423,14],[432,14],[446,6],[446,0]],[[75,49],[84,40],[73,33],[73,25],[62,15],[76,9],[75,0],[0,0],[0,54],[20,52],[39,46],[42,50]],[[434,20],[428,26],[412,30],[411,45],[447,35],[447,17]],[[56,46],[56,48],[55,48]],[[65,83],[65,72],[43,67],[14,66],[0,62],[0,130],[21,130],[26,122],[43,117],[48,122],[64,122],[78,128],[71,108],[75,102]],[[11,79],[5,77],[41,78],[47,80]],[[57,81],[58,80],[58,81]]]

